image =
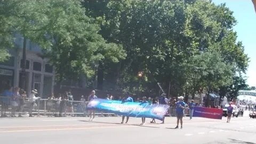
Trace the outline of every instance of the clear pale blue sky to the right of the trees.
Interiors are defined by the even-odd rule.
[[[249,67],[245,76],[247,84],[256,86],[256,12],[251,0],[212,0],[219,5],[226,3],[226,6],[233,11],[237,20],[234,30],[237,32],[237,40],[242,41],[244,52],[250,58]]]

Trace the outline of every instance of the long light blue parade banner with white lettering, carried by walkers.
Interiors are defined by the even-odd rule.
[[[157,105],[143,102],[122,102],[117,100],[94,99],[87,105],[87,109],[94,109],[131,117],[147,117],[163,120],[169,109],[168,105]]]

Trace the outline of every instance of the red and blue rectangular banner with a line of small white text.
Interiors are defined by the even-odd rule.
[[[194,107],[194,117],[205,117],[213,119],[222,119],[222,109]]]

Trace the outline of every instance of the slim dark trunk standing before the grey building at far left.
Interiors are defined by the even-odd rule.
[[[24,37],[23,38],[23,51],[22,51],[22,63],[21,63],[21,89],[26,90],[26,59],[27,59],[27,54],[26,54],[26,45],[27,45],[27,39]]]

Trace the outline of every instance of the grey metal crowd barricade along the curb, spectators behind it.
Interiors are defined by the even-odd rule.
[[[0,97],[0,116],[89,116],[88,102],[60,99],[29,99]],[[113,113],[95,111],[98,116],[116,116]]]

